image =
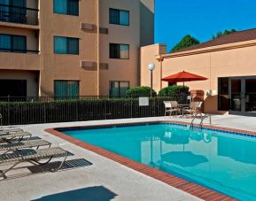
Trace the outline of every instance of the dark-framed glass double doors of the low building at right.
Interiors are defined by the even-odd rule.
[[[256,77],[229,78],[230,114],[256,116]]]

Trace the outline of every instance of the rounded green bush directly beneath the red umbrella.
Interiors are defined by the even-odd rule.
[[[174,97],[177,99],[181,95],[189,94],[190,88],[181,85],[172,85],[159,91],[159,97]]]

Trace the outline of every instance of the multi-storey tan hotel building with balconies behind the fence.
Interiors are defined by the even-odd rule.
[[[0,97],[124,95],[154,0],[0,0]]]

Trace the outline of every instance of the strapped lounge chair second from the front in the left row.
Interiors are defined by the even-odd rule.
[[[39,149],[39,147],[49,146],[50,148],[51,143],[45,140],[31,140],[27,142],[19,142],[19,143],[3,143],[0,144],[0,152],[7,153],[10,151],[17,151],[26,148],[33,148]]]

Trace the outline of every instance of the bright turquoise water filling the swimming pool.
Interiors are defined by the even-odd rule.
[[[172,124],[64,133],[231,197],[256,200],[255,137]]]

